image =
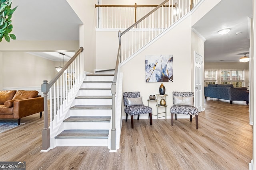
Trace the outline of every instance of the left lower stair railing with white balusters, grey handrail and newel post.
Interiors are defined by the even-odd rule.
[[[83,47],[63,66],[48,83],[43,81],[44,94],[44,129],[42,130],[42,150],[50,149],[50,139],[55,134],[64,119],[72,101],[84,81],[84,58],[81,53]],[[50,127],[48,127],[48,92],[50,92]]]

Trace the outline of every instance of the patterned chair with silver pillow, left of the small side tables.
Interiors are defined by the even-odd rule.
[[[140,92],[123,92],[124,99],[124,112],[126,113],[126,119],[128,114],[131,115],[131,123],[133,129],[133,115],[138,115],[140,118],[140,114],[149,114],[150,125],[152,125],[152,108],[148,106],[144,106],[142,103],[142,97],[140,97]]]

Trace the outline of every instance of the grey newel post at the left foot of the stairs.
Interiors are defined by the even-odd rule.
[[[42,130],[42,150],[50,148],[50,129],[48,128],[48,92],[50,91],[48,81],[44,80],[41,85],[41,91],[44,94],[44,129]]]

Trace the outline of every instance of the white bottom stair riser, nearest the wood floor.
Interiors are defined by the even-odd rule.
[[[108,139],[56,139],[57,147],[107,147]]]

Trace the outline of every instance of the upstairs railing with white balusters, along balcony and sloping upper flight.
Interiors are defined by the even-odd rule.
[[[199,1],[164,0],[160,5],[148,6],[95,5],[98,28],[124,30],[120,34],[122,62],[190,12]]]

